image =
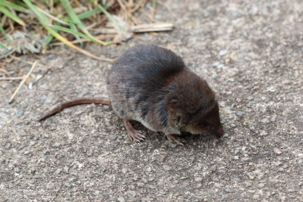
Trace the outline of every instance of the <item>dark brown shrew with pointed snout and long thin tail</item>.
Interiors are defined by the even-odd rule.
[[[130,120],[142,123],[152,131],[163,132],[171,143],[186,143],[182,132],[208,134],[221,139],[215,92],[207,82],[191,72],[180,56],[158,45],[135,45],[114,63],[107,77],[109,100],[80,98],[63,103],[39,120],[61,109],[82,104],[111,104],[123,119],[128,136],[140,142],[145,136],[135,130]]]

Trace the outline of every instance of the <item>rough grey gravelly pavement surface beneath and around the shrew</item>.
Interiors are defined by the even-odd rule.
[[[174,22],[172,32],[84,48],[108,58],[138,43],[172,49],[215,90],[224,141],[186,136],[176,146],[135,123],[147,139],[132,143],[98,104],[35,121],[65,100],[108,96],[112,64],[57,47],[44,59],[62,69],[23,86],[12,104],[18,82],[0,82],[0,201],[303,201],[303,2],[166,3],[173,12],[159,5],[155,18]],[[30,69],[13,64],[8,71]]]

